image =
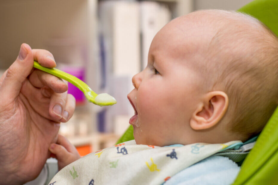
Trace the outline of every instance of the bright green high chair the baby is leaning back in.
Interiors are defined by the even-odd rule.
[[[255,0],[238,11],[256,17],[278,36],[278,0]],[[129,126],[117,144],[133,139],[133,128]],[[233,183],[233,185],[242,184],[278,184],[278,107],[243,161]]]

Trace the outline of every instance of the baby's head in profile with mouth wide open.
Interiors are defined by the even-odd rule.
[[[128,98],[137,144],[245,141],[277,106],[278,41],[250,16],[201,10],[154,37]]]

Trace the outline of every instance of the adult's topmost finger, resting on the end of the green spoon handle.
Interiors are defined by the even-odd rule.
[[[32,53],[33,59],[38,61],[42,66],[49,68],[56,67],[54,57],[48,50],[33,49]]]

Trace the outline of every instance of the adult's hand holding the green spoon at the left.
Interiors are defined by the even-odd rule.
[[[53,55],[22,44],[0,78],[0,184],[36,178],[56,143],[59,123],[71,118],[75,99],[60,78],[33,69],[33,61],[55,67]]]

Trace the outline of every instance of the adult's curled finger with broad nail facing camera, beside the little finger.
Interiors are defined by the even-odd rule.
[[[67,102],[67,94],[68,92],[66,91],[63,93],[53,92],[53,94],[51,95],[49,103],[49,114],[52,118],[56,120],[62,119]]]

